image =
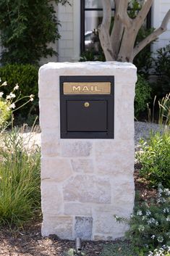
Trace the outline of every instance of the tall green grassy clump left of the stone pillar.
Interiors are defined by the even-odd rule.
[[[40,209],[40,153],[24,144],[12,131],[0,149],[0,225],[22,226]]]

